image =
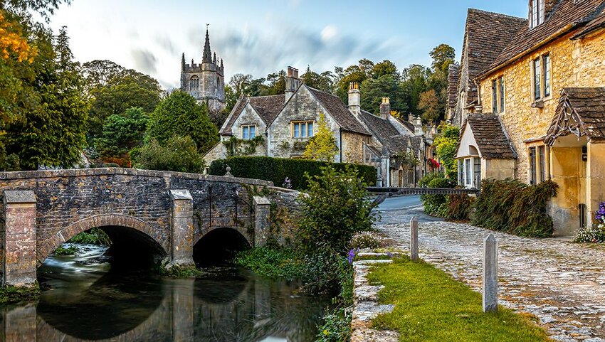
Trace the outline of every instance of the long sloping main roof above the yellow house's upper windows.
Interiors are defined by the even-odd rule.
[[[604,9],[603,0],[559,0],[544,23],[535,28],[530,28],[526,23],[498,58],[494,58],[493,63],[482,70],[482,75],[487,75],[576,28],[586,24],[591,26],[591,21],[601,19]]]

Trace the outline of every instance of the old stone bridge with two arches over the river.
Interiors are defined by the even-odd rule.
[[[194,245],[215,230],[263,245],[270,201],[255,195],[272,185],[136,169],[0,173],[2,283],[35,282],[46,257],[91,228],[104,228],[114,242],[145,240],[173,264],[192,264]]]

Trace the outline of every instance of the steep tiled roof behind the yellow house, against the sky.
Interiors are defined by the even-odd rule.
[[[466,58],[466,63],[468,63],[468,82],[470,83],[466,105],[470,105],[478,99],[473,79],[492,65],[502,50],[515,39],[517,32],[523,27],[527,28],[527,25],[527,19],[524,18],[468,9],[462,50],[463,58]],[[461,86],[467,87],[467,85]]]

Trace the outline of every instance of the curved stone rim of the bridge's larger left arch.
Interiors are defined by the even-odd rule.
[[[41,244],[41,247],[38,248],[38,252],[36,255],[36,258],[38,260],[38,267],[63,242],[67,242],[75,235],[78,235],[79,233],[85,232],[93,228],[107,227],[122,227],[135,230],[139,233],[142,233],[142,235],[147,237],[149,240],[155,242],[155,244],[157,244],[157,246],[161,248],[164,255],[170,254],[170,240],[159,237],[157,231],[154,230],[150,225],[145,223],[144,220],[140,220],[139,218],[134,218],[129,215],[102,214],[93,215],[88,218],[78,220],[75,223],[68,225],[68,227],[58,231],[58,233],[43,242]]]

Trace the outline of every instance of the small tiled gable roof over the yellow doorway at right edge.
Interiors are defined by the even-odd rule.
[[[544,141],[554,144],[558,137],[605,139],[605,87],[564,88]]]

